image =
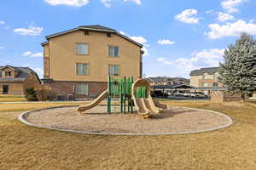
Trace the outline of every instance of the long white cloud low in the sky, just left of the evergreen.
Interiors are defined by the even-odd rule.
[[[181,69],[181,71],[189,71],[199,69],[201,67],[218,66],[218,63],[222,61],[224,55],[224,49],[211,48],[203,49],[200,52],[191,55],[191,58],[179,58],[175,60],[169,60],[165,57],[160,57],[157,61],[164,65],[172,65]]]

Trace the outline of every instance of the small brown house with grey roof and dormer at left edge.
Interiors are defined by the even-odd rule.
[[[37,73],[28,67],[0,66],[0,95],[24,95],[26,88],[40,84]]]

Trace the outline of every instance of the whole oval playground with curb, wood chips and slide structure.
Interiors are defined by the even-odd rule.
[[[233,123],[216,111],[160,104],[150,96],[148,81],[133,77],[109,77],[108,89],[89,104],[28,111],[19,119],[33,127],[113,135],[201,133]]]

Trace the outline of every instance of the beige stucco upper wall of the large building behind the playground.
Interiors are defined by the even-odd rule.
[[[76,42],[89,44],[88,55],[76,54]],[[119,57],[108,56],[108,46],[119,47]],[[46,48],[44,48],[46,49]],[[49,39],[49,78],[55,81],[88,81],[107,82],[108,65],[119,65],[120,77],[134,76],[135,80],[140,76],[140,47],[111,34],[90,31],[89,36],[83,31],[75,31]],[[88,63],[89,75],[77,76],[76,63]]]

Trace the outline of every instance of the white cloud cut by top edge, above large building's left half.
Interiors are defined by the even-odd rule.
[[[44,0],[46,3],[50,5],[67,5],[74,7],[82,7],[89,3],[89,0]]]

